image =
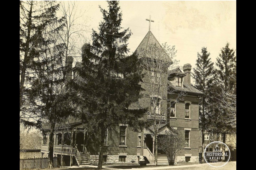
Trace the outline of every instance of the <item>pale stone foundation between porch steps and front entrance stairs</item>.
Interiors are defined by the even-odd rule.
[[[138,163],[138,156],[137,155],[127,155],[125,162],[131,163],[132,160],[135,160],[135,163]],[[140,161],[144,161],[143,156],[139,156]],[[99,162],[99,155],[90,155],[90,163],[91,164],[98,164]],[[119,162],[119,155],[107,155],[107,163],[118,163]]]

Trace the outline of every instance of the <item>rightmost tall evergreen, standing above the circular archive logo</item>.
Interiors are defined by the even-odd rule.
[[[225,102],[223,103],[223,94],[234,94],[236,91],[236,56],[235,50],[229,48],[229,43],[221,49],[216,66],[216,78],[212,83],[211,90],[209,123],[211,124],[211,131],[222,134],[223,143],[225,143],[226,132],[235,130],[232,125],[226,122],[229,119],[229,111],[225,107]],[[225,146],[222,150],[225,151]]]

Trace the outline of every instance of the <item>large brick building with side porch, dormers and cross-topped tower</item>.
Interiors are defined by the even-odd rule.
[[[149,31],[137,49],[146,50],[148,44],[157,44],[161,46],[155,39],[151,31]],[[138,53],[141,51],[137,50]],[[68,64],[73,63],[72,57],[69,57]],[[77,62],[73,68],[72,78],[79,76],[78,67],[82,64]],[[180,69],[174,69],[169,75],[169,84],[175,89],[175,94],[168,94],[167,99],[159,99],[159,107],[168,107],[171,104],[165,120],[159,129],[159,135],[164,134],[168,128],[175,128],[183,133],[185,140],[185,147],[177,155],[177,162],[191,161],[197,162],[199,159],[199,104],[198,97],[203,93],[195,89],[190,84],[191,65],[185,64],[183,72]],[[153,74],[153,73],[152,73]],[[122,78],[122,75],[120,75]],[[143,83],[141,83],[143,88]],[[166,89],[167,90],[167,89]],[[174,103],[176,96],[180,92],[185,92],[182,100]],[[145,100],[142,105],[150,107],[152,95],[145,95]],[[171,100],[173,99],[173,100]],[[169,103],[172,102],[172,103]],[[161,104],[160,104],[161,103]],[[44,129],[45,135],[42,139],[42,153],[48,153],[48,135],[50,129]],[[54,131],[54,154],[61,156],[61,162],[73,165],[97,163],[99,155],[99,138],[87,140],[86,124],[82,122],[73,122],[65,127],[59,126]],[[138,162],[141,160],[148,160],[153,163],[153,138],[149,130],[144,129],[141,133],[135,133],[133,128],[127,124],[117,123],[105,131],[105,151],[103,152],[103,162],[131,162],[132,160]],[[155,152],[154,152],[155,153]],[[158,152],[158,163],[167,163],[166,156]]]

